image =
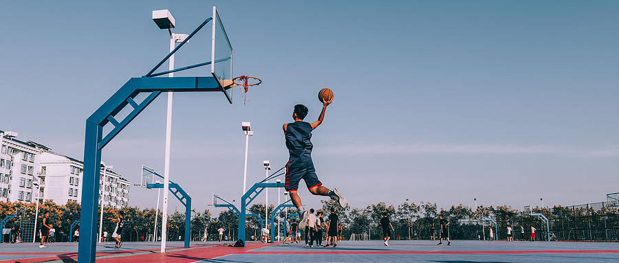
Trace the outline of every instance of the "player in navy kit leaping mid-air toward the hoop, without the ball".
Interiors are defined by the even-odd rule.
[[[283,124],[283,131],[286,137],[286,148],[290,152],[290,159],[286,163],[286,181],[285,190],[290,192],[290,198],[300,213],[301,221],[299,222],[299,228],[305,229],[307,225],[307,218],[310,215],[305,206],[301,204],[301,198],[299,198],[296,190],[298,189],[298,183],[303,179],[305,185],[314,195],[329,196],[334,201],[339,201],[342,207],[346,207],[346,199],[337,188],[332,191],[323,186],[318,176],[316,176],[316,170],[314,170],[314,163],[312,162],[312,130],[316,129],[325,118],[325,110],[327,106],[333,102],[331,100],[325,100],[323,102],[323,111],[316,122],[311,124],[303,122],[303,118],[307,115],[307,107],[301,104],[294,105],[294,111],[292,118],[294,122],[290,124]]]

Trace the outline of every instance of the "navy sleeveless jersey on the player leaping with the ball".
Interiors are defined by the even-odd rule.
[[[312,160],[312,126],[308,122],[292,122],[286,126],[286,148],[291,161]]]

